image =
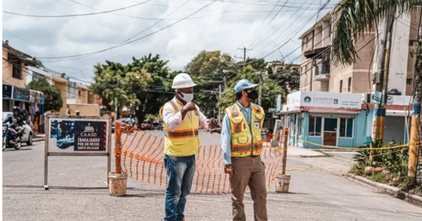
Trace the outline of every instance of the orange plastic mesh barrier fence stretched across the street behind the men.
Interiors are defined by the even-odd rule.
[[[122,131],[122,169],[136,181],[167,186],[163,160],[164,134],[162,137],[157,137],[149,132],[130,127],[122,128]],[[281,171],[282,167],[282,152],[278,148],[278,143],[271,140],[272,137],[271,134],[263,138],[264,148],[261,154],[261,159],[265,164],[267,186],[274,182],[276,173]],[[278,138],[279,133],[274,141],[278,141]],[[265,141],[270,142],[265,143]],[[205,194],[230,192],[229,175],[224,173],[220,145],[199,146],[191,191]]]

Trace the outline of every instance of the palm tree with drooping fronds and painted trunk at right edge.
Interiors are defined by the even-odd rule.
[[[355,40],[363,38],[365,33],[384,20],[393,16],[410,14],[420,0],[343,0],[333,11],[334,30],[331,55],[335,65],[341,63],[350,65],[356,62],[357,50],[353,44]],[[421,16],[422,17],[422,16]],[[393,19],[396,17],[393,17]],[[415,57],[413,76],[413,114],[409,149],[409,178],[414,180],[417,164],[419,142],[419,114],[422,101],[422,34],[419,21],[418,43],[411,53]],[[391,31],[391,30],[390,30]],[[388,57],[387,57],[388,59]],[[384,81],[386,82],[386,81]],[[385,85],[386,86],[386,85]],[[378,116],[376,118],[378,121]],[[384,127],[383,121],[380,128]],[[374,128],[373,128],[374,131]],[[373,133],[379,135],[379,133]],[[382,135],[383,136],[383,135]],[[381,138],[379,136],[377,138]]]

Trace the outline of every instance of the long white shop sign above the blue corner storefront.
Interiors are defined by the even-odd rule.
[[[287,100],[289,112],[297,109],[356,112],[362,108],[362,94],[358,93],[297,91],[287,95]]]

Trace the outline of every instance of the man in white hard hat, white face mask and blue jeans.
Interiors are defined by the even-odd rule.
[[[216,119],[206,119],[192,102],[195,85],[188,74],[176,75],[172,85],[176,95],[160,109],[165,129],[164,167],[168,177],[164,221],[184,220],[186,196],[196,168],[198,128],[214,130],[217,126]]]

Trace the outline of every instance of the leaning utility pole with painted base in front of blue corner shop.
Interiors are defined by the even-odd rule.
[[[383,44],[384,50],[384,69],[381,70],[380,84],[377,85],[376,95],[381,95],[380,104],[375,104],[374,115],[372,121],[372,133],[371,140],[375,143],[377,139],[384,139],[384,128],[385,128],[385,107],[387,104],[388,96],[388,72],[390,67],[390,51],[391,51],[391,37],[393,31],[394,15],[390,15],[385,22],[385,37],[386,41]]]

